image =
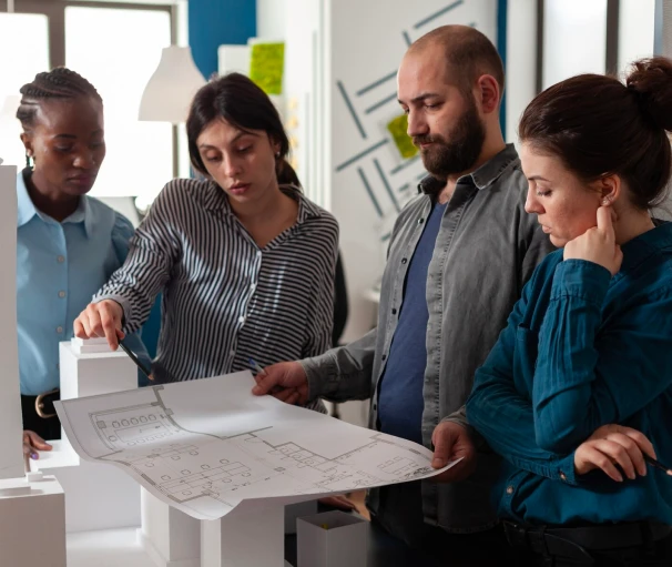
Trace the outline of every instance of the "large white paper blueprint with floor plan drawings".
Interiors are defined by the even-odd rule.
[[[247,498],[320,497],[428,478],[431,452],[251,393],[241,372],[57,403],[81,458],[118,466],[161,500],[217,519]]]

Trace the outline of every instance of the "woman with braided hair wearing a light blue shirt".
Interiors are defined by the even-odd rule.
[[[123,264],[133,227],[86,196],[105,158],[103,102],[83,77],[65,68],[21,88],[17,118],[27,168],[17,180],[17,312],[23,428],[61,437],[59,342],[96,290]],[[149,364],[144,345],[129,336]],[[29,439],[26,446],[26,439]],[[44,446],[24,436],[24,450]]]

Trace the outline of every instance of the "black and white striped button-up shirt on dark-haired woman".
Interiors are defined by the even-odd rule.
[[[330,346],[338,224],[289,190],[297,222],[259,249],[212,181],[171,181],[98,293],[138,330],[163,292],[152,372],[186,381],[324,353]]]

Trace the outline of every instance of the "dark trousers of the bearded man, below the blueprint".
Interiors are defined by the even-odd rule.
[[[425,524],[419,482],[384,486],[378,490],[380,508],[371,510],[371,522],[432,561],[449,567],[511,565],[515,556],[500,527],[450,534]]]

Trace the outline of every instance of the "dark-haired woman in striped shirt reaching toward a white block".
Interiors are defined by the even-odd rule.
[[[157,383],[250,368],[250,358],[265,366],[322,354],[338,225],[278,183],[289,143],[277,110],[232,73],[198,91],[186,129],[205,179],[163,189],[123,266],[74,322],[77,336],[105,336],[115,350],[163,292]]]

